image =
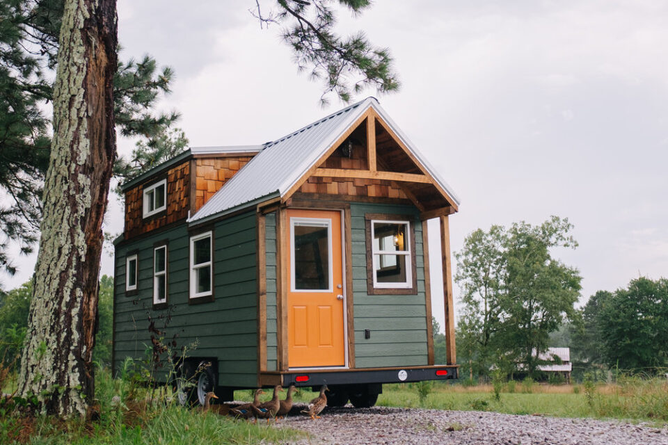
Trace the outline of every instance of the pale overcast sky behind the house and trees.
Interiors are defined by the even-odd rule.
[[[263,13],[271,4],[260,1]],[[120,58],[173,67],[160,106],[182,114],[192,146],[264,143],[345,106],[321,107],[321,84],[297,71],[279,26],[260,29],[254,7],[118,1]],[[582,303],[668,276],[667,22],[662,0],[383,0],[358,17],[341,10],[337,29],[390,48],[401,90],[356,99],[378,97],[461,198],[452,250],[477,228],[568,218],[580,245],[553,254],[580,270]],[[119,153],[133,145],[120,138]],[[120,233],[122,209],[110,205],[106,230]],[[438,264],[438,243],[431,254]],[[5,289],[28,280],[34,260],[17,259]],[[111,264],[105,254],[102,273]]]

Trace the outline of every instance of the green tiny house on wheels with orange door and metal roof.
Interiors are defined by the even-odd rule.
[[[191,148],[122,186],[113,367],[150,325],[193,397],[273,385],[370,406],[383,383],[457,378],[448,218],[459,201],[369,97],[263,145]],[[427,220],[443,260],[429,264]],[[434,363],[442,270],[447,363]]]

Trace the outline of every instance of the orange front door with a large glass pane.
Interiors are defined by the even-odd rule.
[[[344,291],[341,213],[287,211],[288,364],[344,366]]]

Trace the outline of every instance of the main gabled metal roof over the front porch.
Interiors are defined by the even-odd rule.
[[[294,133],[264,144],[264,149],[226,182],[188,222],[200,223],[250,203],[283,196],[369,107],[374,108],[443,190],[459,204],[450,186],[438,177],[436,170],[383,111],[378,100],[367,97]]]

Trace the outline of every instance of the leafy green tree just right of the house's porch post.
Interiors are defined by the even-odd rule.
[[[580,275],[552,257],[555,248],[577,246],[572,229],[552,216],[537,226],[495,225],[466,237],[456,253],[463,302],[457,350],[477,375],[488,375],[495,363],[507,373],[522,363],[534,375],[550,332],[575,316]]]

